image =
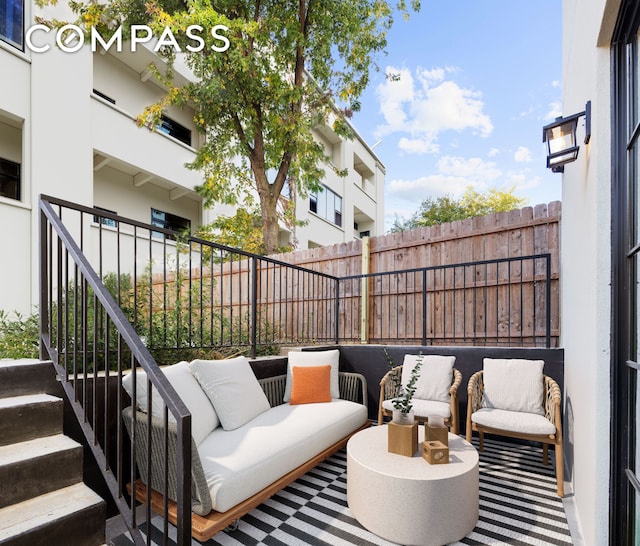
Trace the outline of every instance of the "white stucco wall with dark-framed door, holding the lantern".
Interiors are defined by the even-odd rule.
[[[587,545],[640,544],[640,3],[563,1],[562,182],[568,479]],[[560,182],[560,180],[559,180]]]

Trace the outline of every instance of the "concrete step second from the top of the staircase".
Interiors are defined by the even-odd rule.
[[[61,434],[63,408],[49,394],[0,398],[0,446]]]

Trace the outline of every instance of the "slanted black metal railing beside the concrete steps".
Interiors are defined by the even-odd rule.
[[[122,302],[114,299],[87,260],[82,216],[76,226],[79,231],[72,235],[63,224],[63,210],[62,202],[56,205],[53,199],[40,200],[40,356],[52,360],[113,500],[137,545],[150,544],[151,535],[144,539],[136,501],[133,494],[127,494],[127,484],[133,488],[138,478],[135,464],[130,461],[136,460],[140,442],[135,426],[131,427],[134,432],[130,438],[123,431],[121,415],[128,402],[122,379],[127,368],[144,371],[144,377],[133,374],[131,396],[136,400],[138,389],[142,388],[148,393],[147,429],[151,431],[152,398],[159,396],[164,407],[160,416],[164,430],[169,430],[171,416],[178,436],[177,453],[169,454],[165,442],[166,464],[162,475],[152,476],[157,470],[148,465],[146,483],[162,484],[159,489],[168,499],[170,472],[177,476],[174,499],[177,542],[191,544],[191,415],[133,329],[130,317],[119,305]],[[114,394],[110,392],[113,378],[117,383]],[[115,434],[112,422],[116,423]],[[150,438],[146,445],[150,451]],[[129,457],[125,456],[127,453]],[[147,460],[151,460],[150,452]],[[169,460],[176,461],[175,468],[169,468]],[[142,519],[150,522],[150,489],[146,507],[146,517]],[[168,509],[165,503],[165,521]],[[165,529],[165,537],[168,536]]]

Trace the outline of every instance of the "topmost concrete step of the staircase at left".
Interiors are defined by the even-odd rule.
[[[55,377],[51,362],[0,359],[0,398],[46,392]]]

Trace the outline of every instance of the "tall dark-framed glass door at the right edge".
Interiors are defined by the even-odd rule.
[[[640,291],[636,286],[640,245],[640,5],[623,0],[611,44],[612,65],[612,332],[611,332],[611,466],[609,476],[609,544],[636,544],[640,514],[635,460],[636,393],[640,380]],[[634,155],[635,154],[635,155]]]

